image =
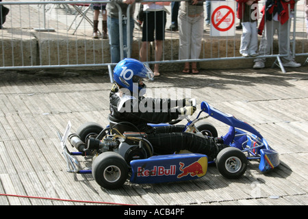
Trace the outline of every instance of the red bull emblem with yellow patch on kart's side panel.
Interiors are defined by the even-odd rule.
[[[177,178],[185,177],[190,175],[191,177],[198,176],[203,177],[207,172],[207,157],[201,157],[198,161],[186,166],[182,162],[179,163],[181,174],[177,175]]]

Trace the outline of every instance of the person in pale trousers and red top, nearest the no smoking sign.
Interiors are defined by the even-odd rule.
[[[235,0],[238,2],[237,16],[242,24],[240,54],[244,57],[257,56],[259,0]]]

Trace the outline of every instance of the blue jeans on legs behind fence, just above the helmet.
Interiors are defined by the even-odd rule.
[[[131,45],[133,43],[133,27],[135,23],[133,22],[133,17],[131,16],[129,18],[130,21],[130,40]],[[120,57],[120,38],[123,40],[123,58],[127,57],[127,50],[124,48],[127,48],[127,23],[123,21],[122,27],[123,27],[123,36],[120,36],[119,31],[119,20],[118,18],[112,18],[110,16],[107,16],[107,27],[109,32],[109,44],[110,44],[110,53],[111,53],[111,61],[112,63],[118,63],[121,60]]]

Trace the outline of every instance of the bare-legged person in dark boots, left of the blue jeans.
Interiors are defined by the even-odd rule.
[[[101,0],[92,0],[92,1],[101,1]],[[106,14],[106,4],[102,3],[93,3],[92,4],[94,15],[93,15],[93,38],[97,39],[99,38],[99,12],[101,11],[101,14],[103,16],[102,19],[102,30],[103,30],[103,38],[107,39],[107,14]]]

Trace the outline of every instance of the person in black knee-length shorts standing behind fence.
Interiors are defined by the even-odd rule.
[[[164,8],[166,2],[144,3],[143,6],[143,26],[142,26],[142,44],[140,48],[140,61],[148,60],[147,54],[150,48],[150,42],[155,41],[155,61],[162,58],[162,46],[165,40],[166,11]],[[154,38],[155,32],[155,38]],[[154,64],[154,76],[159,76],[159,64]]]

